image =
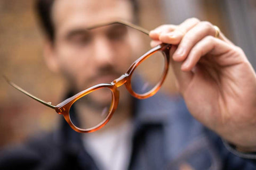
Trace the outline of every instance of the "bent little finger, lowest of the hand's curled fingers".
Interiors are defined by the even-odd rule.
[[[191,49],[187,59],[181,66],[181,70],[191,71],[202,56],[205,56],[206,54],[221,55],[228,53],[230,49],[230,45],[224,41],[212,36],[207,36]],[[222,61],[220,64],[225,64],[225,62]]]

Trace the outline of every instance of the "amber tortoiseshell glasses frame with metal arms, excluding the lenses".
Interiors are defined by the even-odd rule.
[[[137,25],[134,25],[134,24],[126,22],[126,21],[108,22],[108,23],[104,23],[104,24],[94,25],[93,27],[90,27],[88,29],[93,29],[93,28],[97,28],[97,27],[102,27],[103,25],[110,25],[110,24],[115,24],[115,23],[127,25],[128,27],[137,29],[137,30],[139,30],[143,33],[146,33],[148,35],[147,30],[140,28]],[[156,92],[161,88],[161,86],[165,80],[167,71],[169,69],[169,61],[170,61],[169,49],[170,48],[171,48],[170,44],[161,44],[161,45],[158,45],[158,46],[150,49],[147,53],[145,53],[140,58],[138,58],[135,62],[133,62],[132,65],[127,70],[127,72],[124,73],[123,75],[121,75],[121,77],[119,77],[118,79],[114,80],[111,83],[101,83],[101,84],[97,84],[93,87],[90,87],[88,89],[85,89],[85,90],[79,92],[78,94],[66,99],[65,101],[62,101],[57,106],[53,106],[50,102],[46,102],[44,100],[41,100],[41,99],[29,94],[27,91],[21,89],[19,86],[17,86],[13,82],[9,81],[6,77],[5,77],[5,79],[14,88],[18,89],[19,91],[23,92],[24,94],[28,95],[29,97],[39,101],[40,103],[44,104],[45,106],[55,109],[55,111],[58,114],[62,114],[64,116],[65,120],[70,125],[70,127],[73,130],[75,130],[76,132],[80,132],[80,133],[94,132],[94,131],[101,129],[103,126],[105,126],[108,123],[108,121],[110,120],[113,113],[115,112],[117,105],[118,105],[118,100],[119,100],[119,91],[117,90],[118,87],[125,84],[125,87],[130,92],[130,94],[139,99],[145,99],[145,98],[148,98],[148,97],[156,94]],[[148,57],[150,57],[151,55],[153,55],[156,52],[162,52],[164,55],[164,58],[165,58],[164,72],[162,74],[162,78],[158,82],[158,84],[156,84],[155,88],[153,88],[149,92],[147,92],[145,94],[137,94],[132,90],[132,87],[131,87],[132,74],[133,74],[134,70],[138,67],[138,65],[140,65],[140,63],[145,61]],[[109,108],[108,116],[100,124],[98,124],[92,128],[89,128],[89,129],[78,128],[71,122],[70,117],[69,117],[69,110],[70,110],[71,106],[75,103],[75,101],[77,101],[81,97],[83,97],[87,94],[90,94],[90,92],[93,92],[94,90],[101,89],[101,88],[109,88],[112,92],[112,101],[111,101],[111,105]]]

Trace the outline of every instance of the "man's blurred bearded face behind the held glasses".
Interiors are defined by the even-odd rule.
[[[115,19],[132,21],[130,1],[57,0],[52,11],[55,65],[76,92],[125,73],[133,50],[127,28],[117,24],[86,28]]]

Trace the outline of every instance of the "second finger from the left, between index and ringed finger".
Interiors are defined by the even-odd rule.
[[[179,44],[187,31],[193,28],[197,23],[199,23],[199,20],[196,18],[187,19],[174,31],[162,32],[161,35],[159,35],[159,40],[167,44]]]

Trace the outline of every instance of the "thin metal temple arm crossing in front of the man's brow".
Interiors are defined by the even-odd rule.
[[[148,30],[146,30],[146,29],[144,29],[142,27],[139,27],[138,25],[135,25],[133,23],[130,23],[130,22],[127,22],[127,21],[122,21],[122,20],[93,25],[93,27],[89,27],[87,29],[90,30],[90,29],[93,29],[93,28],[102,27],[104,25],[111,25],[111,24],[115,24],[115,23],[120,23],[120,24],[126,25],[128,27],[133,28],[133,29],[137,29],[138,31],[140,31],[142,33],[145,33],[146,35],[149,35],[149,31]]]

